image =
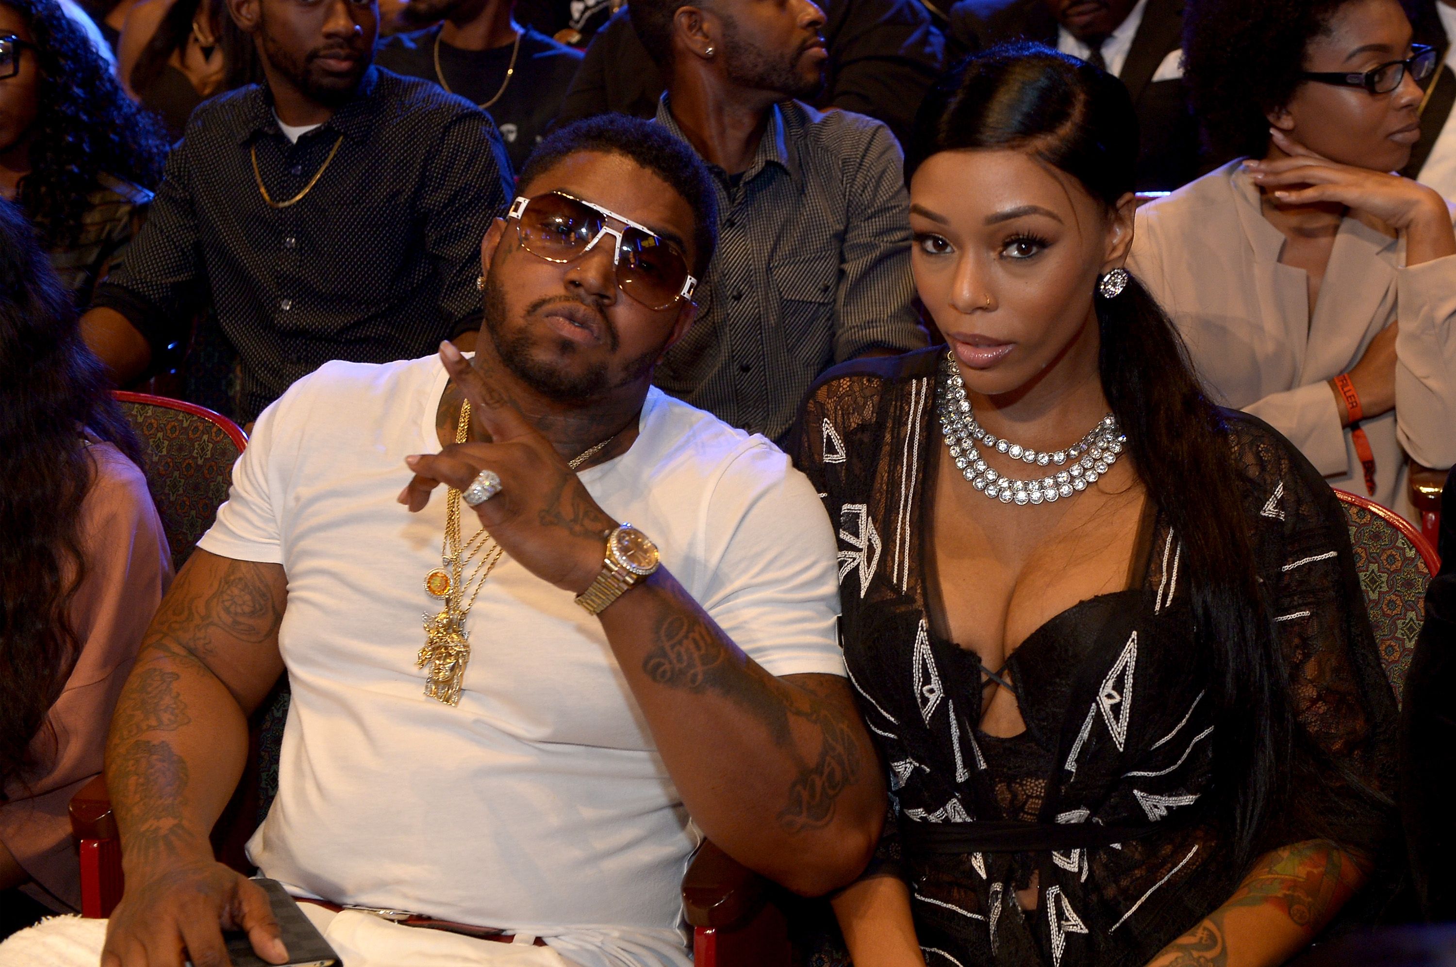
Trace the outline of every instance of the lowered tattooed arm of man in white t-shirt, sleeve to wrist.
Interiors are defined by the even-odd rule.
[[[284,587],[277,564],[199,550],[163,599],[106,742],[128,871],[211,856],[208,830],[246,756],[246,711],[281,670]]]

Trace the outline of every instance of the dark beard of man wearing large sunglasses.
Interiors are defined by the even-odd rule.
[[[652,366],[657,365],[661,349],[642,353],[636,359],[629,359],[623,368],[623,375],[619,380],[613,380],[612,369],[606,362],[597,362],[579,372],[571,372],[565,365],[562,365],[562,362],[542,359],[542,349],[555,350],[553,355],[559,361],[565,361],[568,364],[581,352],[581,346],[562,336],[553,337],[547,334],[545,337],[533,337],[530,324],[524,323],[533,311],[540,308],[543,304],[555,301],[558,300],[546,298],[531,304],[527,307],[526,313],[521,314],[521,324],[517,326],[514,332],[508,332],[505,289],[501,286],[494,273],[488,275],[485,279],[480,300],[483,310],[480,332],[491,337],[491,343],[495,346],[495,355],[499,356],[501,364],[510,369],[511,375],[517,380],[529,385],[536,393],[540,393],[547,400],[579,403],[582,400],[604,396],[617,387],[635,382],[652,372]],[[619,345],[616,329],[612,326],[612,321],[606,318],[606,316],[603,316],[601,320],[606,327],[607,343],[613,350],[616,350]]]

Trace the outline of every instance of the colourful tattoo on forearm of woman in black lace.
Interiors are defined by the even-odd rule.
[[[1364,878],[1356,859],[1335,843],[1294,843],[1264,856],[1227,903],[1168,945],[1158,967],[1223,967],[1229,963],[1229,916],[1267,907],[1312,938],[1345,904]],[[1245,928],[1243,931],[1249,931]]]

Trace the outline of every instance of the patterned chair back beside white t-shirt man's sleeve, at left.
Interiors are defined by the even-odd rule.
[[[248,438],[226,416],[192,403],[146,393],[114,396],[146,446],[147,487],[162,516],[172,564],[182,570],[227,500],[233,461]]]

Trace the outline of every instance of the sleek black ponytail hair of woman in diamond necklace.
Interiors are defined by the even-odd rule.
[[[1021,150],[1075,177],[1108,212],[1133,190],[1137,115],[1120,80],[1040,44],[962,61],[926,96],[906,179],[932,154]],[[1182,542],[1194,646],[1211,669],[1214,797],[1239,868],[1284,797],[1289,702],[1274,625],[1245,529],[1245,483],[1220,410],[1182,340],[1136,278],[1093,295],[1102,391],[1149,499]]]

